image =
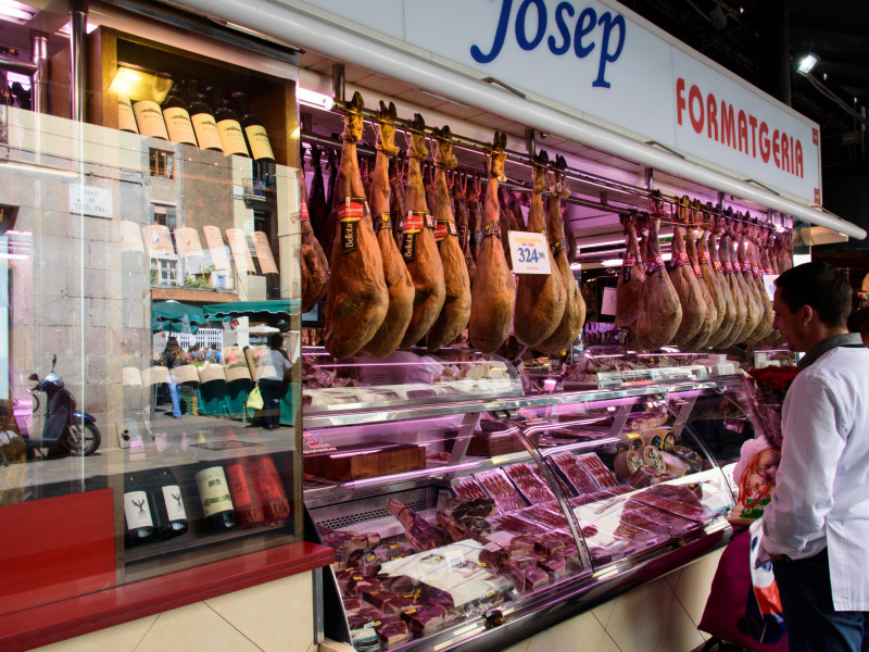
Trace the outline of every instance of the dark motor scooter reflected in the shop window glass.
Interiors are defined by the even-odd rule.
[[[39,411],[40,400],[37,391],[46,394],[46,418],[42,422],[40,438],[27,437],[27,457],[33,459],[37,452],[47,450],[46,456],[90,455],[102,442],[97,428],[97,419],[85,412],[77,412],[75,398],[63,387],[63,378],[54,372],[58,356],[51,359],[51,373],[41,380],[37,374],[29,379],[36,385],[28,389],[33,396],[33,411]]]

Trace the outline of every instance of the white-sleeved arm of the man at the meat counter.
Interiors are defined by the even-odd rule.
[[[804,374],[788,393],[782,459],[764,511],[764,548],[770,554],[798,555],[823,529],[845,447],[840,434],[844,397],[828,379]]]

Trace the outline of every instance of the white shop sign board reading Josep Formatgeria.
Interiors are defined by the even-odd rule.
[[[403,41],[413,54],[471,68],[739,178],[820,202],[816,123],[617,2],[440,0],[434,8],[428,0],[318,0],[313,11],[333,12],[342,27],[393,47]]]

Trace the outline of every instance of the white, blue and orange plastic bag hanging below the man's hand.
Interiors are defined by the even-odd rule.
[[[784,618],[781,615],[781,599],[776,576],[772,574],[772,562],[769,560],[758,564],[757,556],[764,537],[763,518],[755,521],[748,528],[751,548],[748,550],[748,567],[752,573],[752,589],[745,605],[745,625],[753,639],[761,643],[774,643],[785,634]]]

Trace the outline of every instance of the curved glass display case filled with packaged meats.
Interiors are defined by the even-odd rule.
[[[503,649],[723,544],[734,383],[306,413],[327,636]]]

